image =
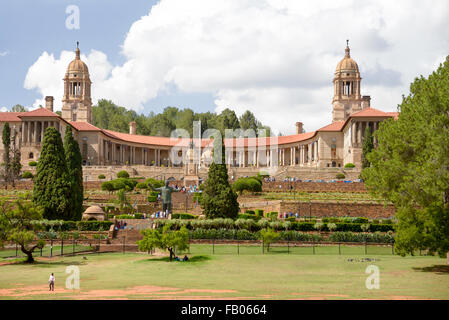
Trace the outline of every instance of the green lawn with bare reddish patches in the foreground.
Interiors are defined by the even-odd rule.
[[[449,299],[449,266],[438,257],[402,258],[388,247],[367,255],[363,246],[341,255],[338,247],[318,247],[315,255],[311,248],[259,249],[242,246],[237,255],[235,246],[215,246],[212,254],[210,245],[192,245],[191,261],[171,263],[142,253],[37,257],[34,265],[0,259],[0,299]],[[70,265],[80,269],[79,290],[65,288]],[[378,290],[365,286],[368,265],[379,267]]]

